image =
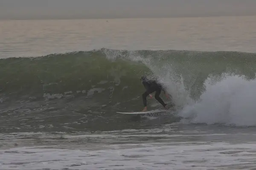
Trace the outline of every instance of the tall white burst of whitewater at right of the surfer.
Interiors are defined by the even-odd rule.
[[[193,123],[223,123],[227,125],[256,125],[256,80],[227,76],[215,84],[205,83],[200,100],[187,105],[180,116],[192,116]]]

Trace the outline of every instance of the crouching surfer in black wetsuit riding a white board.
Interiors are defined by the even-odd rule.
[[[145,76],[142,76],[140,78],[140,80],[142,81],[146,91],[145,93],[142,94],[142,99],[143,99],[143,105],[144,105],[144,109],[143,111],[147,111],[147,96],[150,95],[151,93],[153,93],[154,91],[155,93],[155,99],[161,104],[163,105],[163,107],[168,110],[168,106],[165,102],[163,102],[163,100],[160,98],[160,93],[161,91],[164,92],[164,94],[166,95],[167,98],[169,98],[168,94],[166,94],[166,90],[163,88],[163,85],[161,85],[159,82],[157,82],[156,80],[153,79],[148,79]],[[151,96],[152,97],[152,96]]]

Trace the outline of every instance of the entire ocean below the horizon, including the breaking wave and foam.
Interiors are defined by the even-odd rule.
[[[255,45],[256,16],[0,20],[0,170],[255,170]],[[116,113],[142,75],[168,113]]]

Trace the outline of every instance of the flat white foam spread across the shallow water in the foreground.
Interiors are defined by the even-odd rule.
[[[230,143],[116,144],[96,150],[20,147],[0,150],[2,170],[170,170],[251,169],[256,166],[256,145]]]

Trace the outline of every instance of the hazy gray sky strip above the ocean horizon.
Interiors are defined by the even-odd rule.
[[[256,15],[256,0],[0,0],[0,19]]]

